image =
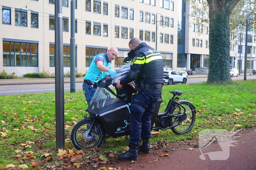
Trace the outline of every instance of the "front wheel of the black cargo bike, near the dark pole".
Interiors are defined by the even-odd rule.
[[[76,149],[90,149],[101,145],[105,138],[105,132],[100,123],[95,122],[94,129],[91,131],[92,134],[90,136],[87,134],[89,132],[88,128],[90,128],[92,123],[92,119],[84,119],[78,122],[72,129],[71,140]]]

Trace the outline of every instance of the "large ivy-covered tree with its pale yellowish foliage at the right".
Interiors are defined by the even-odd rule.
[[[195,16],[193,19],[198,25],[209,25],[210,63],[207,82],[230,83],[230,44],[236,44],[237,36],[245,31],[246,19],[249,23],[255,22],[256,1],[207,0],[198,4],[191,0],[190,4],[194,10],[189,17]]]

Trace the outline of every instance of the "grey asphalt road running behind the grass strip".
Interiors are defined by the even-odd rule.
[[[232,80],[243,80],[244,76],[233,77]],[[247,76],[247,79],[256,79],[256,76]],[[188,78],[189,83],[206,82],[207,78]],[[82,90],[83,83],[76,83],[76,90]],[[64,91],[70,91],[70,84],[64,83]],[[24,84],[0,86],[0,95],[30,94],[55,92],[55,84]]]

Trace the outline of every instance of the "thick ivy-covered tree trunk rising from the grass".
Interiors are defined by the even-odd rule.
[[[230,67],[229,17],[240,0],[207,0],[209,5],[209,84],[227,84],[232,80]]]

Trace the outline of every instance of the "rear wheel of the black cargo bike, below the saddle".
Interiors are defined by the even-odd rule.
[[[192,129],[196,118],[196,108],[187,100],[180,100],[178,103],[170,112],[174,116],[171,118],[170,124],[174,126],[180,123],[171,128],[174,133],[180,135],[188,133]]]

